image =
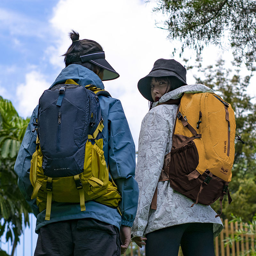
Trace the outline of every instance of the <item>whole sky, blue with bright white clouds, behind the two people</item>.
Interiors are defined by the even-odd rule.
[[[65,67],[63,57],[71,44],[68,32],[102,45],[106,60],[120,74],[105,81],[105,89],[121,100],[135,148],[148,101],[137,89],[157,59],[173,59],[179,42],[167,40],[157,28],[161,13],[153,13],[155,1],[144,0],[1,0],[0,1],[0,95],[11,100],[22,117],[31,116],[39,97]],[[182,58],[193,64],[196,53],[186,49]],[[204,63],[214,64],[228,50],[204,49]],[[179,54],[174,59],[184,66]],[[194,84],[192,71],[187,83]],[[249,87],[252,96],[256,90]]]

